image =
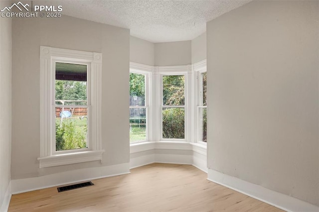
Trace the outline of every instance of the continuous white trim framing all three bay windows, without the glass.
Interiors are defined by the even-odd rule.
[[[206,72],[206,60],[192,65],[181,66],[149,66],[130,62],[130,71],[149,74],[149,119],[148,119],[148,140],[131,142],[132,148],[143,147],[143,144],[153,149],[154,142],[169,142],[179,145],[189,142],[206,148],[206,142],[198,141],[198,120],[197,109],[199,104],[199,73]],[[162,118],[161,118],[161,77],[163,75],[185,75],[185,139],[162,139]],[[160,129],[160,130],[152,130]],[[144,148],[144,147],[143,147]],[[139,151],[139,150],[137,150]]]

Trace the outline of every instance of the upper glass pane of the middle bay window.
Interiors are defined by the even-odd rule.
[[[183,106],[185,101],[184,75],[163,76],[163,105]]]

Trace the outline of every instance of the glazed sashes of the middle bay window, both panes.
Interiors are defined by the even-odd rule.
[[[161,138],[185,139],[185,75],[161,77]]]

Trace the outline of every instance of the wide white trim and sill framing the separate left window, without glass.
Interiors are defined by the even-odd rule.
[[[89,149],[55,153],[52,148],[54,132],[52,113],[54,100],[53,59],[72,60],[79,63],[91,63],[91,141]],[[101,99],[102,99],[102,54],[96,52],[76,51],[69,49],[40,46],[40,157],[39,167],[52,167],[88,161],[102,161],[101,139]],[[54,136],[53,136],[54,137]]]

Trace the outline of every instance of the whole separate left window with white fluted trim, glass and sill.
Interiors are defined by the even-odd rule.
[[[102,159],[102,54],[41,46],[40,168]]]

